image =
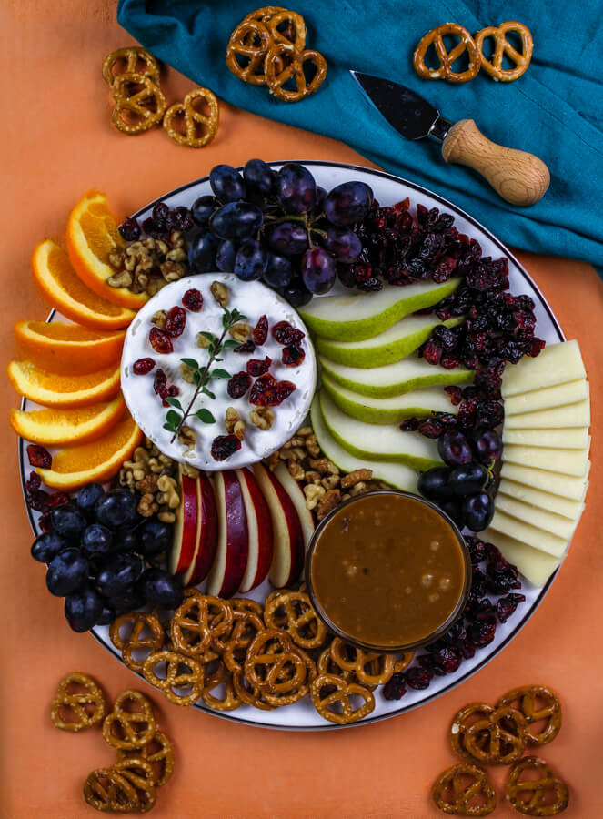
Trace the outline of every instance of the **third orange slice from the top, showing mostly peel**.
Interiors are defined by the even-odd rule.
[[[116,366],[125,330],[92,330],[63,321],[17,321],[15,339],[36,367],[65,375],[82,375]]]

